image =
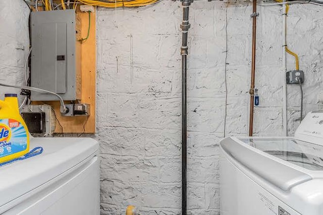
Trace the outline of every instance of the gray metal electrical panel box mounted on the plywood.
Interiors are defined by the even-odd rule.
[[[80,42],[74,10],[31,14],[31,87],[81,99]],[[31,92],[32,101],[52,101],[52,94]]]

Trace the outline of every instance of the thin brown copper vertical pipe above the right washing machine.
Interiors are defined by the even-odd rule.
[[[253,134],[253,100],[254,100],[254,74],[256,64],[256,21],[257,21],[257,0],[252,1],[252,60],[251,60],[251,85],[250,85],[250,118],[249,118],[249,136]]]

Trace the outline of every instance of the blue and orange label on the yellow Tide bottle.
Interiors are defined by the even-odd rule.
[[[27,132],[14,119],[0,119],[0,158],[27,149]]]

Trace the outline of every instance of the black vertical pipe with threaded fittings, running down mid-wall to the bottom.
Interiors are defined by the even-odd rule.
[[[186,140],[187,140],[187,55],[188,55],[188,46],[187,46],[187,35],[190,24],[188,22],[188,12],[189,6],[191,5],[191,0],[183,0],[183,21],[181,24],[182,29],[182,214],[186,215],[187,207],[187,179],[186,179]]]

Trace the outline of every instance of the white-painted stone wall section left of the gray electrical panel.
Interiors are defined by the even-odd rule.
[[[25,60],[29,51],[29,8],[22,0],[0,1],[0,82],[25,85]],[[0,99],[5,93],[19,89],[0,87]]]

